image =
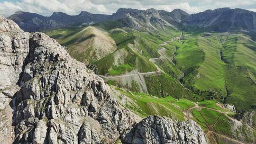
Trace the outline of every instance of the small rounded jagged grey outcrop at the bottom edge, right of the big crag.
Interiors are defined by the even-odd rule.
[[[206,144],[205,134],[192,120],[175,124],[167,117],[149,116],[120,136],[124,144]]]

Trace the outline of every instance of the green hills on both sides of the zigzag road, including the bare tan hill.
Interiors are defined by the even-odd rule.
[[[159,45],[181,33],[173,27],[153,26],[157,30],[138,31],[116,21],[94,27],[51,29],[46,33],[66,45],[74,58],[87,62],[97,74],[156,72],[159,67],[164,73],[145,76],[145,82],[141,80],[149,94],[194,101],[216,99],[233,103],[238,110],[255,108],[256,43],[250,35],[190,31],[183,32],[181,40]],[[153,62],[151,58],[159,59]],[[110,83],[128,88],[118,81]],[[129,89],[139,91],[141,83],[131,83]]]

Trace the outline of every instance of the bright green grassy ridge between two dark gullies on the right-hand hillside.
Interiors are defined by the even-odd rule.
[[[222,45],[219,39],[211,36],[198,39],[199,48],[204,53],[204,61],[198,68],[194,79],[196,89],[212,91],[215,99],[224,99],[226,96],[224,66],[220,59]]]

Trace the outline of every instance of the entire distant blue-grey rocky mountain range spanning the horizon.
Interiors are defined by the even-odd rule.
[[[205,10],[191,15],[181,9],[174,9],[171,12],[167,12],[165,10],[155,9],[139,10],[121,8],[112,15],[91,14],[90,12],[82,11],[79,15],[75,16],[70,16],[63,12],[54,12],[50,17],[18,11],[8,18],[15,21],[21,29],[28,32],[45,28],[92,25],[102,21],[121,21],[124,26],[139,28],[139,26],[144,27],[139,25],[141,21],[147,23],[149,20],[160,24],[166,24],[167,22],[173,27],[196,26],[205,31],[256,29],[255,12],[230,8]]]

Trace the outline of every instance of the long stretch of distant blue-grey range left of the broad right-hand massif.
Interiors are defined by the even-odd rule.
[[[82,11],[79,15],[70,16],[63,12],[54,12],[50,17],[44,17],[35,13],[17,11],[15,14],[8,18],[15,21],[21,29],[28,32],[38,31],[44,28],[56,28],[66,26],[79,26],[79,25],[91,25],[102,21],[115,21],[121,18],[126,18],[127,14],[130,16],[146,17],[146,13],[153,11],[138,10],[138,9],[118,9],[116,13],[112,15],[103,14],[91,14],[87,11]],[[165,19],[168,22],[176,22],[188,16],[186,12],[181,9],[174,9],[172,12],[164,10],[155,10],[156,16]],[[143,20],[143,19],[142,19]]]

